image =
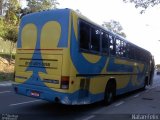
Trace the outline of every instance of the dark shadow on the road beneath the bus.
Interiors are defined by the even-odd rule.
[[[116,97],[116,101],[121,99],[133,96],[138,92],[142,92],[143,90],[136,90],[134,92],[130,92],[124,95],[120,95]],[[112,105],[112,104],[111,104]],[[62,105],[57,103],[50,103],[47,101],[38,102],[36,104],[25,104],[20,106],[12,107],[11,111],[14,111],[14,114],[19,114],[21,118],[27,119],[47,119],[47,120],[73,120],[79,119],[83,116],[89,115],[92,112],[104,108],[107,106],[103,106],[103,102],[97,102],[90,105]]]

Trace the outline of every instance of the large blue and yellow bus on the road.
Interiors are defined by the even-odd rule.
[[[16,93],[61,104],[90,104],[151,84],[150,52],[71,9],[21,19]]]

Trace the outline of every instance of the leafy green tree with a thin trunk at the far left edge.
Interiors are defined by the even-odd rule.
[[[1,37],[3,40],[10,41],[10,60],[12,59],[12,50],[18,37],[20,4],[18,0],[7,0],[3,5],[7,8],[6,15],[1,21]]]

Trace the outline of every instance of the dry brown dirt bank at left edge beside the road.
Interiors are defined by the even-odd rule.
[[[0,81],[13,80],[14,60],[9,63],[5,58],[0,57]]]

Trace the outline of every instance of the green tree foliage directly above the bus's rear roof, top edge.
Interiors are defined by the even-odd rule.
[[[57,0],[27,0],[30,12],[37,12],[47,9],[56,9],[59,5]]]

